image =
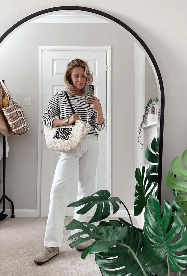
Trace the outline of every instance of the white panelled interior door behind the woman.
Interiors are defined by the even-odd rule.
[[[64,51],[64,50],[45,50],[42,59],[42,113],[48,105],[51,97],[58,91],[65,90],[64,73],[67,63],[71,59],[83,59],[88,62],[91,71],[93,71],[94,94],[101,101],[103,115],[106,119],[107,104],[107,52],[106,51]],[[59,153],[50,150],[45,142],[44,133],[42,133],[42,171],[41,171],[41,207],[40,216],[48,216],[50,190],[56,164],[58,163]],[[91,160],[90,160],[91,161]],[[78,176],[78,170],[77,170]],[[93,192],[106,189],[106,127],[99,132],[99,160],[96,172],[96,186]],[[78,183],[72,179],[68,203],[77,200]],[[73,216],[74,209],[66,208],[66,216]],[[93,211],[88,213],[93,214]]]

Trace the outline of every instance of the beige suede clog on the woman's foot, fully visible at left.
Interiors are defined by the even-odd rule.
[[[46,246],[42,252],[36,255],[34,262],[36,262],[36,264],[44,264],[45,262],[55,257],[58,253],[59,249],[56,250],[53,247]]]

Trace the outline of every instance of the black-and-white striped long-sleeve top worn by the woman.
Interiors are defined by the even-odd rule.
[[[99,136],[98,131],[104,129],[105,121],[102,124],[97,124],[97,111],[88,103],[85,103],[85,97],[83,96],[71,96],[68,94],[72,107],[74,108],[75,114],[79,115],[79,120],[84,122],[87,121],[88,111],[90,111],[90,125],[92,129],[89,131],[89,134],[95,134]],[[99,101],[100,102],[100,101]],[[73,114],[71,106],[66,97],[65,91],[57,92],[50,99],[48,107],[45,109],[42,116],[42,124],[45,126],[51,126],[55,117],[58,116],[59,119],[70,118]]]

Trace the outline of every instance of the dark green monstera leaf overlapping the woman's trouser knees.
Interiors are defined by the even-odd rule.
[[[93,196],[96,194],[97,196]],[[85,214],[88,212],[95,204],[97,204],[97,208],[95,211],[94,216],[90,219],[89,222],[97,222],[101,221],[110,216],[110,204],[113,206],[113,214],[115,214],[120,206],[118,203],[121,204],[121,200],[118,197],[110,197],[110,193],[107,190],[100,190],[94,193],[90,197],[84,197],[78,201],[75,201],[69,204],[67,207],[77,207],[81,205],[85,205],[83,208],[77,211],[77,214]],[[118,202],[118,203],[117,203]]]

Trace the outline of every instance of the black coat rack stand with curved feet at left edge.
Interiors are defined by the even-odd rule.
[[[4,79],[2,80],[4,83]],[[2,212],[0,213],[0,221],[2,221],[3,219],[5,219],[8,215],[4,214],[5,211],[5,199],[7,199],[8,201],[10,201],[11,205],[12,205],[12,216],[11,218],[13,219],[14,216],[14,205],[13,205],[13,201],[10,200],[10,198],[7,197],[6,193],[5,193],[5,176],[6,176],[6,137],[3,135],[3,195],[0,199],[0,205],[1,203],[3,203],[3,207],[2,207]]]

